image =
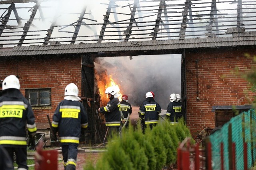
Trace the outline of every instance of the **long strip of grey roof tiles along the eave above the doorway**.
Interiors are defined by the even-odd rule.
[[[150,41],[127,41],[127,42],[108,42],[108,43],[88,43],[88,44],[65,44],[65,45],[31,45],[13,47],[13,49],[0,49],[0,57],[8,56],[35,56],[35,55],[52,55],[65,53],[98,53],[107,51],[143,51],[161,50],[163,45],[168,45],[168,49],[191,49],[191,48],[207,48],[207,47],[234,47],[248,45],[256,45],[256,33],[240,34],[240,37],[216,37],[216,38],[198,38],[195,39],[172,39],[172,40],[150,40]],[[254,42],[254,43],[253,43]],[[120,47],[120,48],[118,48]],[[122,47],[122,48],[121,48]],[[149,48],[148,48],[149,47]],[[44,51],[44,53],[39,53]],[[166,48],[165,48],[166,49]],[[21,52],[22,51],[22,52]],[[79,51],[79,52],[78,52]]]

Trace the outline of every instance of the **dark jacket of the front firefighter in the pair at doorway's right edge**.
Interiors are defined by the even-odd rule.
[[[182,117],[182,105],[180,102],[170,102],[166,111],[166,119],[169,119],[171,122],[178,122],[178,119]]]

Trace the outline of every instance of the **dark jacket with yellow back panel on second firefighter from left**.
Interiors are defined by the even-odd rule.
[[[52,128],[58,130],[62,144],[79,143],[81,127],[88,126],[87,112],[79,101],[62,100],[52,118]]]

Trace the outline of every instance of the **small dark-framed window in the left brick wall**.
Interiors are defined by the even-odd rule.
[[[51,106],[51,89],[26,89],[31,106]]]

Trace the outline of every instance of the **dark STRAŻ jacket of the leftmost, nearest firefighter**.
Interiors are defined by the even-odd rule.
[[[0,145],[26,147],[26,126],[29,132],[36,132],[34,113],[28,100],[18,89],[4,90],[0,97]]]

